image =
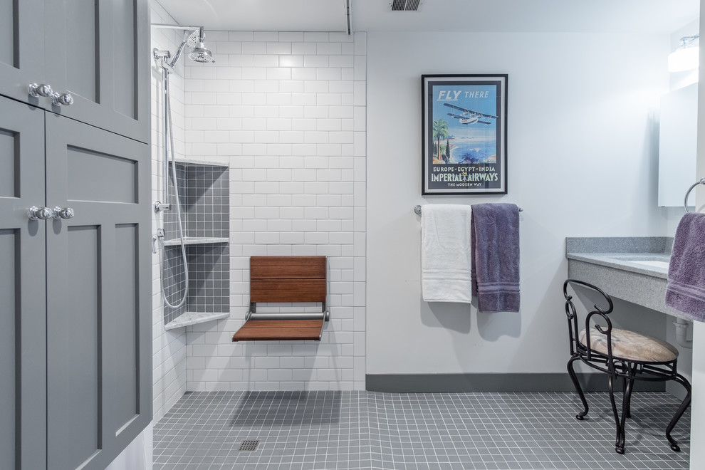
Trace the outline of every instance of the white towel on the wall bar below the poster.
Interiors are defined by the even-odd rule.
[[[422,207],[421,290],[425,302],[470,303],[470,216],[469,205]]]

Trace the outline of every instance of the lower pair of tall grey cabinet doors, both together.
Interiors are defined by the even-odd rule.
[[[104,469],[151,421],[150,172],[145,143],[0,98],[1,469]]]

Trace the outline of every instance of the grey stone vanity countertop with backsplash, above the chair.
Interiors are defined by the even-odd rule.
[[[616,298],[659,312],[664,304],[670,237],[569,237],[568,277],[602,288]]]

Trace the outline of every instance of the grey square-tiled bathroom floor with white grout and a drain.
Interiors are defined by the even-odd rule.
[[[189,392],[155,424],[156,470],[688,469],[690,413],[635,392],[627,454],[615,453],[606,393]],[[257,439],[254,451],[240,451]]]

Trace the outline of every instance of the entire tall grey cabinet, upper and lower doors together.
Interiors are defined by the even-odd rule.
[[[105,469],[152,419],[148,27],[147,0],[0,0],[3,470]]]

